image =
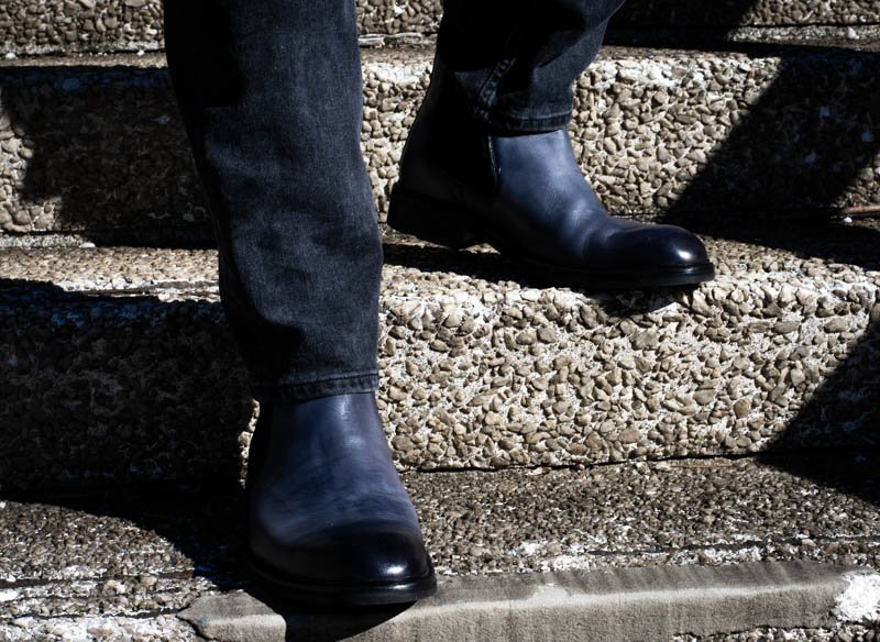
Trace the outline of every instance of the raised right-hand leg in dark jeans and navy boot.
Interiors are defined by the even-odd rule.
[[[619,4],[448,0],[388,223],[452,247],[488,242],[566,285],[712,278],[698,239],[612,218],[574,158],[571,86]]]

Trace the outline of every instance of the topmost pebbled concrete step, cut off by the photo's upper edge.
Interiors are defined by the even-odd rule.
[[[437,33],[440,0],[358,0],[361,33],[381,36]],[[876,33],[880,9],[872,0],[630,0],[612,24],[612,36],[663,32],[682,40],[812,38],[831,30],[843,37]],[[794,27],[794,30],[792,30]],[[792,33],[794,32],[794,33]],[[0,54],[113,53],[162,48],[161,0],[6,0],[0,7]]]

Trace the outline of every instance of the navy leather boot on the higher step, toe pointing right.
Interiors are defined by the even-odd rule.
[[[565,130],[510,134],[472,119],[439,59],[404,147],[388,224],[453,248],[488,243],[560,285],[680,286],[715,276],[689,231],[610,217]]]

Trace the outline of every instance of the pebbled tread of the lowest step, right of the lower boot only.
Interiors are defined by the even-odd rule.
[[[443,574],[765,560],[876,568],[875,456],[828,453],[771,462],[778,467],[712,460],[580,474],[454,473],[454,491],[443,477],[408,479]],[[854,469],[836,468],[846,466]],[[843,477],[851,482],[842,489]]]

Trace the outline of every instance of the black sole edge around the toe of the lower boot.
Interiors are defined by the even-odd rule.
[[[249,565],[256,578],[272,594],[297,605],[319,608],[376,607],[411,604],[437,593],[433,564],[428,560],[424,577],[395,583],[324,584],[278,573],[249,555]]]

